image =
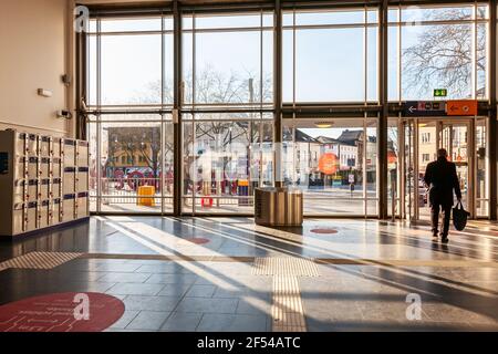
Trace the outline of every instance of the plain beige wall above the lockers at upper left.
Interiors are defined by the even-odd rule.
[[[61,75],[71,65],[66,0],[0,0],[0,128],[71,136],[56,118],[70,104]],[[38,88],[53,92],[39,96]]]

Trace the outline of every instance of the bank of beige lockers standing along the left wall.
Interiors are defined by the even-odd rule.
[[[89,217],[87,142],[0,131],[0,236]]]

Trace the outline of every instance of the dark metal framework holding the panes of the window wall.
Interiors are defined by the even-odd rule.
[[[190,4],[184,4],[180,0],[173,0],[170,6],[160,6],[160,7],[151,7],[147,9],[144,8],[137,8],[137,7],[128,7],[127,9],[116,9],[113,8],[106,8],[106,7],[90,7],[92,13],[96,15],[98,19],[106,19],[111,17],[122,15],[122,17],[144,17],[144,15],[157,15],[159,14],[162,17],[162,25],[164,25],[164,19],[163,17],[167,14],[172,14],[174,18],[174,29],[173,32],[170,30],[166,30],[162,28],[162,33],[173,33],[174,35],[174,104],[173,105],[165,105],[164,102],[162,102],[160,107],[155,107],[159,110],[155,110],[153,112],[147,111],[146,108],[149,108],[151,106],[144,106],[144,107],[135,107],[137,110],[122,110],[120,111],[120,107],[106,107],[107,110],[100,110],[102,107],[102,102],[98,102],[97,110],[94,110],[93,112],[85,112],[82,107],[82,104],[80,102],[81,97],[85,97],[87,95],[86,90],[86,82],[89,73],[86,71],[86,62],[87,62],[87,51],[86,51],[86,41],[84,35],[77,35],[77,44],[76,45],[76,72],[79,74],[79,85],[77,85],[77,94],[76,94],[76,107],[77,107],[77,117],[79,122],[76,123],[76,134],[80,137],[86,136],[86,122],[85,122],[85,115],[86,114],[94,114],[96,116],[95,121],[89,121],[87,124],[95,124],[96,132],[97,132],[97,160],[96,165],[97,168],[97,176],[98,180],[102,176],[102,164],[101,164],[101,125],[104,122],[107,122],[104,117],[112,114],[146,114],[146,113],[155,113],[160,114],[162,118],[162,126],[166,124],[166,121],[164,121],[164,115],[166,114],[173,114],[174,112],[178,113],[178,121],[174,123],[174,142],[176,146],[181,147],[183,149],[183,143],[181,143],[181,116],[183,114],[195,114],[195,113],[216,113],[216,112],[241,112],[243,107],[240,108],[232,108],[229,106],[219,106],[219,107],[212,107],[212,106],[204,106],[201,107],[200,104],[197,104],[196,107],[188,107],[188,105],[184,105],[181,102],[181,15],[183,13],[188,13],[189,11],[195,11],[195,13],[199,14],[207,14],[207,13],[220,13],[220,12],[241,12],[241,11],[273,11],[274,21],[273,21],[273,28],[268,30],[273,30],[273,84],[274,84],[274,96],[273,96],[273,106],[271,106],[271,103],[268,104],[268,108],[263,106],[261,103],[258,107],[255,107],[255,110],[249,110],[249,112],[253,113],[273,113],[274,114],[274,142],[281,142],[281,119],[283,118],[283,114],[291,114],[293,116],[301,116],[301,115],[313,115],[313,114],[330,114],[330,116],[353,116],[357,117],[357,112],[363,112],[362,114],[364,117],[371,117],[370,114],[374,114],[374,112],[378,113],[378,124],[377,124],[377,148],[378,148],[378,173],[377,178],[380,180],[380,191],[378,191],[378,205],[380,205],[380,218],[384,218],[384,208],[383,205],[387,205],[384,202],[384,199],[387,199],[386,197],[386,190],[384,190],[384,179],[386,179],[386,147],[387,147],[387,132],[385,127],[387,126],[387,119],[390,117],[400,117],[400,105],[402,104],[402,95],[398,94],[397,102],[390,102],[387,98],[387,50],[388,50],[388,43],[387,43],[387,29],[392,25],[397,25],[398,31],[401,31],[403,22],[388,22],[387,15],[388,10],[393,7],[408,7],[408,6],[427,6],[427,7],[435,7],[435,6],[459,6],[459,4],[466,4],[466,6],[489,6],[489,19],[474,19],[474,20],[457,20],[457,21],[448,21],[448,23],[474,23],[475,27],[477,27],[480,23],[488,23],[488,53],[487,53],[487,64],[488,64],[488,71],[486,75],[486,81],[488,83],[487,85],[487,92],[488,98],[487,100],[480,100],[479,102],[479,116],[480,115],[487,115],[487,147],[488,147],[488,162],[489,162],[489,173],[488,173],[488,184],[489,184],[489,218],[496,220],[497,219],[497,202],[498,202],[498,176],[497,176],[497,169],[498,169],[498,143],[497,143],[497,90],[496,90],[496,55],[497,55],[497,0],[488,0],[488,1],[464,1],[464,0],[442,0],[437,1],[428,1],[428,0],[343,0],[343,1],[289,1],[289,0],[277,0],[277,1],[260,1],[256,3],[215,3],[215,4],[204,4],[204,6],[190,6]],[[378,32],[380,32],[380,43],[378,43],[378,95],[380,100],[376,104],[372,104],[371,102],[363,102],[363,104],[359,103],[295,103],[295,87],[293,87],[293,102],[292,106],[286,106],[282,104],[281,100],[281,86],[282,86],[282,49],[281,49],[281,35],[282,31],[287,29],[288,27],[282,27],[282,11],[299,11],[299,10],[309,10],[309,11],[318,11],[318,10],[334,10],[334,9],[351,9],[351,8],[362,8],[362,7],[378,7],[380,9],[380,17],[378,17]],[[475,8],[476,9],[476,8]],[[295,18],[295,15],[294,15]],[[401,20],[401,18],[400,18]],[[437,21],[436,21],[437,22]],[[442,24],[443,22],[432,23],[429,21],[422,21],[422,25],[425,24]],[[294,19],[295,24],[295,19]],[[367,24],[371,27],[371,24]],[[335,25],[332,25],[335,27]],[[345,27],[352,27],[351,24],[347,24]],[[310,28],[322,28],[321,25],[310,27]],[[326,27],[325,27],[326,28]],[[216,29],[215,29],[216,30]],[[219,31],[226,31],[227,29],[218,29]],[[216,30],[216,31],[218,31]],[[253,30],[249,29],[248,30]],[[259,30],[259,29],[258,29]],[[186,30],[188,31],[188,30]],[[204,31],[204,29],[201,30]],[[295,27],[293,29],[295,32]],[[155,31],[152,31],[155,33]],[[477,35],[477,31],[475,31],[475,35]],[[145,31],[144,33],[147,33]],[[98,38],[105,37],[108,34],[120,34],[120,33],[100,33],[97,35],[97,42]],[[124,32],[123,34],[126,35],[133,35],[133,32]],[[163,34],[164,35],[164,34]],[[398,44],[401,45],[402,37],[401,33],[398,34]],[[475,40],[476,45],[477,41]],[[476,50],[476,49],[475,49]],[[97,58],[100,56],[100,45],[97,44]],[[162,51],[163,53],[163,51]],[[400,48],[397,50],[397,53],[400,53]],[[295,54],[294,54],[295,55]],[[100,59],[98,59],[100,60]],[[398,55],[398,60],[401,61],[401,55]],[[163,61],[164,63],[164,61]],[[401,63],[398,63],[401,69]],[[293,62],[293,65],[295,66],[295,61]],[[473,70],[475,77],[477,79],[477,74],[475,73],[475,67]],[[295,71],[295,69],[294,69]],[[100,76],[100,70],[97,70],[97,77]],[[401,83],[401,70],[398,70],[398,90],[402,90],[402,83]],[[365,72],[365,76],[367,73]],[[475,85],[477,84],[474,80],[474,92],[476,92]],[[295,85],[295,83],[293,83]],[[98,80],[97,83],[97,100],[101,100],[101,80]],[[401,93],[401,92],[400,92]],[[162,98],[163,98],[162,93]],[[277,95],[276,95],[277,94]],[[280,94],[280,95],[278,95]],[[262,96],[262,95],[261,95]],[[262,101],[262,100],[261,100]],[[366,100],[365,100],[366,101]],[[361,105],[365,106],[364,108],[361,107]],[[114,110],[117,108],[117,110]],[[123,107],[126,108],[126,107]],[[144,108],[144,110],[141,110]],[[239,110],[239,111],[237,111]],[[364,110],[364,111],[362,111]],[[246,111],[247,112],[247,111]],[[366,112],[370,112],[369,115]],[[116,121],[114,121],[116,122]],[[144,122],[144,121],[138,121]],[[169,122],[169,121],[167,121]],[[188,122],[188,121],[186,121]],[[193,121],[189,121],[190,123]],[[267,119],[262,121],[267,122]],[[163,126],[164,128],[164,126]],[[194,125],[193,125],[194,128]],[[400,138],[404,136],[404,131],[400,131]],[[164,146],[162,147],[164,148]],[[183,165],[181,165],[181,149],[175,149],[175,192],[181,192],[178,186],[181,186],[183,180]],[[164,162],[163,162],[164,163]],[[385,169],[385,171],[384,171]],[[274,171],[273,171],[274,173]],[[400,178],[402,178],[401,174],[398,174]],[[403,185],[403,184],[402,184]],[[101,195],[101,186],[100,183],[97,183],[97,199],[102,198]],[[384,196],[385,195],[385,196]],[[174,215],[178,216],[181,215],[181,194],[175,195],[175,211]],[[385,200],[386,201],[386,200]],[[400,201],[400,204],[402,204]],[[100,210],[100,202],[98,205],[98,212]],[[404,205],[401,205],[401,209],[404,209]],[[164,210],[162,210],[164,211]],[[218,214],[215,214],[215,216]],[[204,214],[203,214],[204,216]],[[221,216],[221,214],[219,214]],[[352,217],[352,216],[347,216]]]

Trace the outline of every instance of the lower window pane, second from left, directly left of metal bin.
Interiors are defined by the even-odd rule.
[[[184,211],[253,212],[253,189],[272,184],[272,123],[184,123]]]

